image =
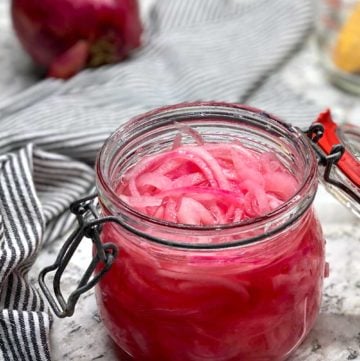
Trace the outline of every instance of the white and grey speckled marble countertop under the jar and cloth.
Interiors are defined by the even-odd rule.
[[[0,0],[0,14],[8,12],[8,1]],[[36,77],[10,28],[8,17],[0,15],[0,102],[31,86]],[[9,54],[11,53],[11,57]],[[360,99],[329,86],[314,55],[311,42],[293,60],[291,71],[284,72],[289,86],[320,105],[331,100],[333,111],[344,121],[360,124]],[[330,276],[325,280],[321,313],[304,343],[291,361],[360,360],[360,227],[359,220],[320,187],[315,200],[327,239]],[[31,277],[36,282],[39,270],[49,265],[61,242],[39,256]],[[90,242],[83,242],[64,278],[65,293],[78,281],[91,257]],[[86,293],[75,315],[55,319],[52,329],[54,361],[117,360],[114,346],[97,313],[93,291]],[[161,361],[161,360],[159,360]]]

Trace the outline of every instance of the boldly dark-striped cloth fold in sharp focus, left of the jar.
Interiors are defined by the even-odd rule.
[[[28,272],[45,242],[66,234],[69,204],[93,170],[28,144],[0,158],[0,350],[4,360],[50,360],[51,315]],[[1,353],[0,353],[1,359]]]

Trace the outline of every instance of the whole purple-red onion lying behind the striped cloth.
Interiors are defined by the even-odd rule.
[[[67,79],[140,46],[136,0],[12,0],[11,13],[24,49],[48,76]]]

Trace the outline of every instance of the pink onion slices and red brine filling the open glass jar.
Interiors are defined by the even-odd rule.
[[[207,243],[220,244],[241,238],[221,225],[266,217],[298,189],[275,154],[198,139],[144,157],[116,192],[140,214],[169,224],[218,225]],[[156,236],[156,224],[148,232]],[[188,232],[186,243],[197,242]],[[324,242],[311,208],[285,230],[238,247],[179,249],[109,224],[102,241],[115,243],[120,255],[97,288],[98,304],[129,359],[284,360],[319,311]]]

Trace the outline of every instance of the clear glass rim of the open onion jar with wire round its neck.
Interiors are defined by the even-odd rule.
[[[144,121],[146,119],[150,119],[151,117],[166,114],[167,112],[174,112],[174,111],[193,111],[193,112],[200,112],[201,110],[209,110],[209,109],[224,109],[224,110],[234,110],[234,111],[247,111],[250,113],[253,113],[254,115],[258,115],[263,117],[269,122],[272,122],[273,124],[280,126],[283,130],[285,130],[288,135],[292,135],[293,140],[298,141],[301,144],[301,147],[303,150],[306,149],[307,155],[309,156],[309,169],[307,171],[306,177],[304,177],[302,183],[299,185],[299,188],[295,194],[291,196],[290,199],[285,201],[283,204],[281,204],[279,207],[275,208],[274,210],[256,218],[249,218],[246,220],[242,220],[240,222],[234,222],[234,223],[226,223],[226,224],[218,224],[218,225],[207,225],[207,226],[197,226],[197,225],[191,225],[191,224],[180,224],[180,223],[174,223],[174,222],[167,222],[163,221],[154,217],[150,217],[148,215],[145,215],[141,212],[136,211],[129,205],[127,205],[125,202],[123,202],[119,196],[117,195],[115,189],[110,184],[110,179],[105,179],[104,172],[101,167],[101,164],[104,162],[104,157],[107,156],[106,149],[111,147],[111,143],[113,141],[113,138],[118,135],[126,126],[129,126],[130,124],[137,123]],[[195,113],[192,113],[194,115]],[[236,117],[234,115],[234,120],[236,120]],[[278,117],[269,114],[261,109],[254,108],[248,105],[242,105],[237,103],[227,103],[227,102],[216,102],[216,101],[201,101],[201,102],[184,102],[179,103],[175,105],[168,105],[160,108],[153,109],[151,111],[148,111],[146,113],[140,114],[138,116],[135,116],[128,120],[125,124],[120,126],[118,129],[116,129],[109,138],[104,142],[103,146],[101,147],[100,151],[98,152],[97,159],[96,159],[96,185],[97,189],[100,194],[100,198],[103,199],[104,195],[107,199],[110,199],[110,204],[114,205],[117,210],[125,208],[128,212],[130,212],[132,215],[136,215],[137,217],[141,218],[142,220],[145,220],[151,224],[156,224],[157,226],[164,226],[168,229],[177,229],[177,230],[193,230],[199,233],[206,233],[206,232],[213,232],[218,230],[233,230],[233,229],[243,229],[245,227],[254,227],[254,226],[261,226],[266,224],[270,220],[274,220],[278,217],[280,217],[284,212],[289,210],[295,210],[294,212],[290,212],[290,216],[286,221],[280,224],[280,226],[264,232],[262,234],[236,240],[236,241],[230,241],[230,242],[224,242],[220,244],[215,243],[184,243],[184,242],[173,242],[167,239],[160,239],[159,237],[154,237],[150,234],[147,234],[146,232],[142,232],[140,230],[137,230],[136,228],[132,227],[131,225],[126,223],[126,220],[119,219],[119,223],[124,226],[125,229],[128,231],[145,238],[151,242],[163,244],[166,246],[171,246],[175,248],[188,248],[188,249],[222,249],[222,248],[232,248],[232,247],[238,247],[243,246],[247,244],[256,243],[258,241],[261,241],[265,238],[271,237],[274,234],[277,234],[287,227],[291,226],[293,223],[295,223],[311,206],[313,203],[313,200],[315,198],[315,193],[317,189],[317,162],[316,162],[316,156],[313,152],[311,146],[309,145],[307,137],[304,135],[304,133],[297,127],[294,127],[290,125],[289,123],[286,123],[282,120],[280,120]],[[315,182],[316,181],[316,182]],[[311,191],[313,190],[313,191]],[[301,197],[300,195],[302,193],[309,194],[307,197]],[[302,204],[299,206],[299,202],[303,201]],[[103,204],[104,205],[104,204]],[[298,207],[296,207],[298,205]]]

